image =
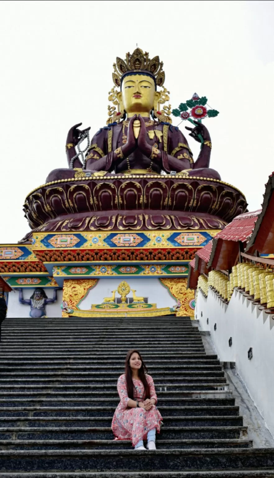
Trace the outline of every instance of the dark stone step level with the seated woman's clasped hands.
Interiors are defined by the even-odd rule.
[[[68,401],[66,399],[25,399],[20,402],[21,407],[58,407],[59,409],[63,407],[116,407],[119,403],[119,397],[117,396],[114,399],[108,398],[79,398],[78,400]],[[0,399],[0,407],[17,407],[17,399]],[[172,406],[182,406],[182,407],[234,407],[235,398],[161,398],[158,402],[159,407],[172,407]]]

